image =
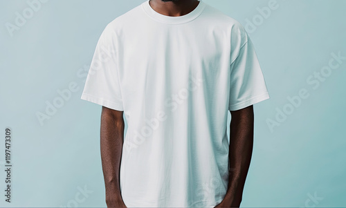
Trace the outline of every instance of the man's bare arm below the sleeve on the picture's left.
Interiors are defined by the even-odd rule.
[[[107,207],[126,207],[120,193],[120,162],[125,123],[123,111],[102,106],[100,146]]]

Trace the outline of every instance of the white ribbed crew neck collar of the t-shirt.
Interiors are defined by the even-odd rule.
[[[158,12],[156,12],[152,6],[149,4],[149,0],[142,3],[142,8],[149,15],[149,17],[152,17],[152,19],[159,21],[161,23],[168,23],[168,24],[181,24],[181,23],[187,23],[189,21],[192,21],[196,19],[199,15],[201,15],[201,12],[203,12],[203,9],[206,7],[206,4],[203,2],[203,0],[199,0],[199,4],[192,12],[179,16],[179,17],[171,17],[167,15],[162,15]]]

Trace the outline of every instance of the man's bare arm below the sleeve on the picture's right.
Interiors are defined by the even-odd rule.
[[[217,207],[239,207],[253,152],[253,105],[230,111],[228,190]]]

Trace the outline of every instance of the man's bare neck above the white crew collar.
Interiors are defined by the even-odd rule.
[[[179,17],[192,12],[199,5],[197,0],[167,1],[149,0],[149,5],[161,15]]]

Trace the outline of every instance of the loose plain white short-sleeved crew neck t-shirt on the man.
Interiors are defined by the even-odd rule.
[[[228,186],[228,111],[269,98],[253,43],[203,1],[161,15],[145,1],[102,32],[82,99],[124,111],[127,207],[215,207]]]

